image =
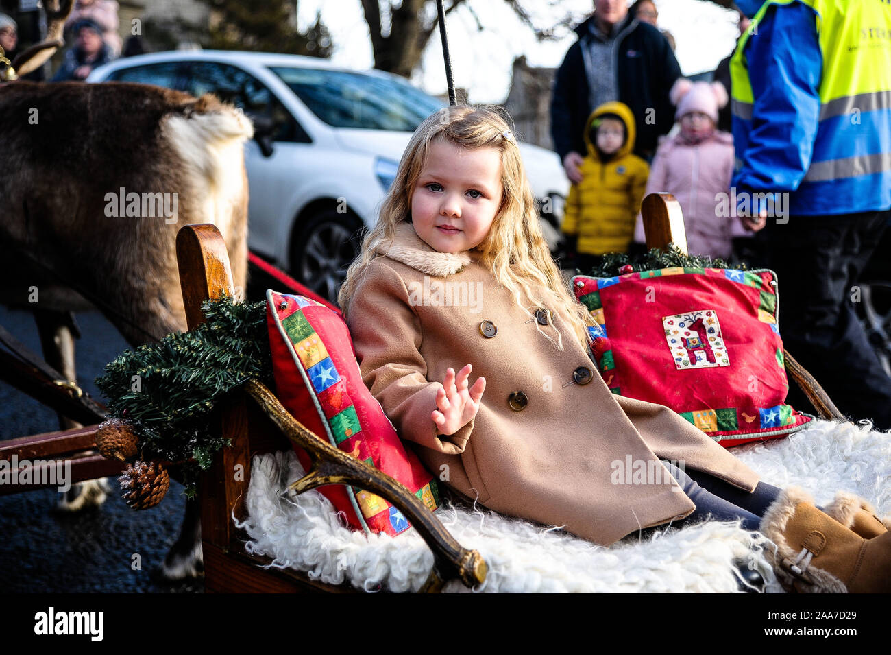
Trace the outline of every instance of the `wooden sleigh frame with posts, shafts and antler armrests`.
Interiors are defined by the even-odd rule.
[[[665,248],[674,242],[686,251],[683,216],[669,194],[651,194],[643,201],[642,216],[648,248]],[[180,282],[189,328],[204,320],[201,303],[233,295],[232,274],[225,244],[213,225],[186,225],[176,240]],[[788,352],[784,352],[787,373],[811,400],[822,419],[843,419],[835,405],[813,377]],[[14,376],[4,376],[7,379]],[[27,385],[17,384],[21,389]],[[64,394],[53,408],[71,405]],[[64,411],[62,409],[62,411]],[[77,411],[72,409],[72,412]],[[72,416],[80,418],[83,415]],[[118,474],[121,463],[103,460],[95,449],[95,426],[53,432],[0,442],[0,459],[69,460],[71,481]],[[434,553],[431,570],[422,591],[438,591],[453,578],[465,585],[481,583],[486,563],[476,551],[463,548],[437,517],[405,487],[367,464],[330,446],[307,430],[279,404],[262,384],[251,381],[240,397],[218,414],[218,430],[231,440],[231,446],[217,453],[211,467],[199,482],[205,589],[208,592],[327,592],[356,591],[352,586],[331,585],[311,579],[295,569],[264,568],[268,558],[248,553],[246,533],[235,528],[233,517],[243,520],[244,499],[250,483],[251,460],[255,455],[303,447],[312,461],[311,471],[292,487],[298,493],[325,484],[350,484],[371,491],[394,504],[421,534]],[[243,475],[236,475],[236,471]],[[0,494],[39,488],[0,486]],[[399,538],[399,537],[396,537]]]

